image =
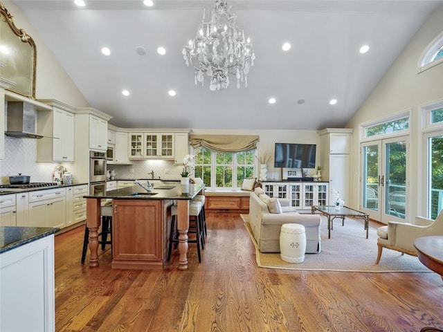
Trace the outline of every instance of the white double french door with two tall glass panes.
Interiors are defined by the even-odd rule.
[[[361,210],[371,219],[404,221],[408,136],[361,143]]]

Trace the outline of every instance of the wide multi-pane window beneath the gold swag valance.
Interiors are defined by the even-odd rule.
[[[207,187],[240,188],[243,178],[252,178],[255,171],[255,150],[221,153],[199,147],[195,155],[195,176]]]

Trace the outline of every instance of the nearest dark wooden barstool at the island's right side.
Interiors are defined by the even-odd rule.
[[[199,263],[201,263],[201,253],[200,253],[200,245],[201,248],[204,249],[204,241],[203,241],[203,231],[201,230],[201,203],[197,201],[190,201],[189,203],[189,216],[193,217],[192,221],[194,221],[194,225],[190,225],[188,234],[195,233],[195,239],[188,240],[188,243],[197,243],[197,255],[199,257]],[[171,259],[172,253],[172,243],[174,243],[174,248],[177,248],[177,244],[179,243],[179,236],[177,231],[177,205],[172,205],[171,207],[171,229],[169,234],[169,246],[168,246],[168,261]]]

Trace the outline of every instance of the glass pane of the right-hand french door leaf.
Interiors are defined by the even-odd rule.
[[[387,143],[385,149],[385,213],[405,219],[406,141]]]

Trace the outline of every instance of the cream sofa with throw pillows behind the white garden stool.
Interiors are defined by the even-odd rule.
[[[280,252],[280,229],[284,223],[298,223],[305,226],[306,252],[320,252],[320,215],[299,214],[289,206],[289,200],[278,199],[282,213],[276,212],[269,203],[269,196],[262,188],[255,188],[249,198],[249,221],[255,241],[261,252]],[[275,203],[275,202],[274,202]]]

